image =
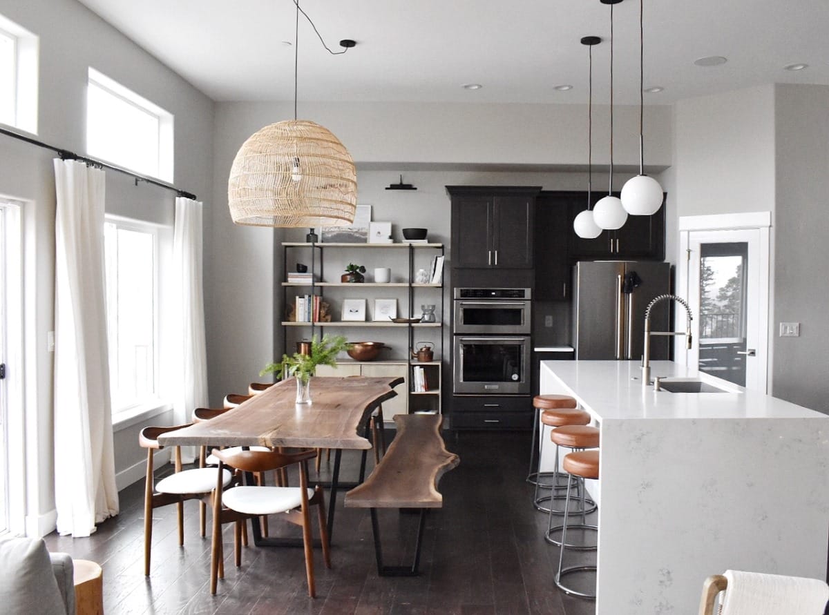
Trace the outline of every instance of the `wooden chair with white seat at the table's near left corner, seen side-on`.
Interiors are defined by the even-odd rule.
[[[153,476],[154,453],[162,449],[158,436],[162,433],[190,427],[190,424],[174,427],[145,427],[138,433],[138,444],[147,449],[147,477],[144,484],[144,574],[150,574],[150,548],[153,544],[153,509],[168,504],[178,506],[178,544],[184,545],[184,502],[206,500],[216,485],[226,487],[231,474],[217,467],[199,467],[182,470],[182,449],[173,448],[175,472],[155,482]],[[204,533],[201,534],[202,536]]]

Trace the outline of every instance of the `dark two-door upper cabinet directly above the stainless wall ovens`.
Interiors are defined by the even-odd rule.
[[[452,265],[532,269],[540,186],[446,186],[452,199]]]

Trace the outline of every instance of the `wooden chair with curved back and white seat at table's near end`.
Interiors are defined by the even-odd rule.
[[[328,532],[325,516],[325,497],[319,485],[313,489],[308,487],[308,460],[317,453],[313,450],[298,453],[280,453],[270,451],[239,451],[229,453],[227,450],[213,449],[213,455],[219,459],[221,470],[232,467],[242,472],[267,472],[283,467],[298,464],[299,487],[262,487],[240,486],[231,487],[226,491],[221,483],[216,481],[216,496],[213,498],[213,537],[211,549],[211,579],[210,592],[216,593],[218,578],[224,577],[221,570],[221,561],[224,559],[221,537],[221,525],[235,522],[234,554],[236,566],[241,565],[241,550],[239,547],[240,522],[261,515],[275,515],[285,512],[291,513],[286,520],[303,528],[303,546],[305,549],[305,573],[308,577],[308,595],[316,596],[313,577],[313,540],[311,531],[311,516],[308,506],[318,506],[318,523],[320,540],[322,542],[322,559],[327,568],[331,568],[331,554],[328,545]],[[298,509],[298,514],[297,514]]]

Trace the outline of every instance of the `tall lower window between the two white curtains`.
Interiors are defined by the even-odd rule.
[[[113,414],[158,400],[158,234],[153,225],[104,225],[109,383]]]

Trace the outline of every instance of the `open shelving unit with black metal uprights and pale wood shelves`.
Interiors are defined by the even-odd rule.
[[[444,263],[443,272],[441,274],[440,283],[416,283],[415,271],[419,268],[425,268],[424,264],[431,262],[433,256],[444,256],[444,245],[434,243],[399,243],[399,244],[346,244],[346,243],[300,243],[300,242],[284,242],[283,246],[283,263],[284,263],[284,279],[288,279],[289,263],[293,263],[293,259],[288,259],[288,255],[298,251],[298,254],[303,254],[303,258],[308,255],[310,264],[308,270],[312,273],[310,282],[282,282],[284,305],[287,308],[293,298],[298,295],[308,294],[311,296],[319,295],[321,298],[326,296],[330,298],[332,295],[342,293],[344,290],[365,291],[366,302],[372,297],[376,298],[377,294],[385,290],[390,290],[396,293],[395,298],[403,300],[403,303],[408,308],[407,315],[409,317],[416,317],[415,313],[415,298],[418,298],[422,303],[434,303],[439,310],[435,312],[437,322],[385,322],[385,321],[342,321],[332,320],[330,322],[295,322],[281,319],[283,327],[284,351],[288,354],[293,353],[293,342],[298,341],[294,338],[297,333],[301,333],[305,339],[310,339],[314,335],[319,335],[319,329],[331,329],[332,327],[342,328],[345,330],[342,335],[348,336],[347,329],[356,329],[358,331],[365,331],[366,329],[377,328],[390,335],[400,337],[400,332],[405,331],[405,355],[396,358],[376,361],[354,361],[350,358],[344,358],[342,361],[337,361],[336,370],[327,366],[320,366],[318,368],[318,375],[375,375],[375,376],[402,376],[405,380],[405,389],[408,391],[407,395],[402,395],[398,390],[398,396],[383,404],[384,418],[387,422],[392,420],[395,414],[409,414],[419,412],[440,413],[442,411],[441,404],[441,370],[445,356],[444,351],[444,273],[446,271],[446,264]],[[327,281],[326,269],[331,270],[330,266],[326,266],[326,261],[332,259],[332,254],[345,254],[348,250],[380,250],[383,262],[387,259],[395,258],[393,255],[403,254],[402,258],[397,256],[398,262],[405,267],[406,274],[402,276],[403,279],[397,281],[390,281],[388,283],[377,282],[362,282],[362,283],[347,283]],[[310,251],[310,254],[308,254]],[[366,252],[367,254],[367,252]],[[308,261],[306,261],[308,262]],[[339,278],[342,272],[335,269],[333,278]],[[400,277],[400,276],[399,276]],[[438,293],[439,291],[439,293]],[[326,295],[325,293],[329,293]],[[429,293],[433,293],[434,298],[429,297]],[[383,293],[389,294],[389,293]],[[334,299],[336,301],[336,299]],[[328,303],[331,303],[330,301]],[[331,304],[332,311],[335,308]],[[337,316],[337,313],[334,313]],[[292,335],[293,332],[293,335]],[[424,337],[431,333],[434,341],[429,341],[434,345],[435,360],[434,361],[417,361],[412,356],[414,351],[415,335],[422,333]],[[353,336],[352,336],[353,337]],[[350,339],[352,338],[350,337]],[[358,341],[352,339],[352,341]],[[377,340],[385,341],[385,340]],[[403,354],[400,345],[397,347],[398,355]],[[424,380],[428,390],[415,391],[414,390],[414,368],[424,368]]]

